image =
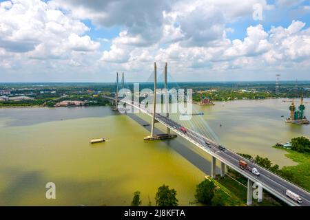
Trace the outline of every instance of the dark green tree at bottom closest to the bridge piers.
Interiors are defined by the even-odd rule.
[[[196,187],[196,199],[206,204],[207,206],[211,205],[211,199],[214,197],[215,185],[213,181],[205,179]]]

